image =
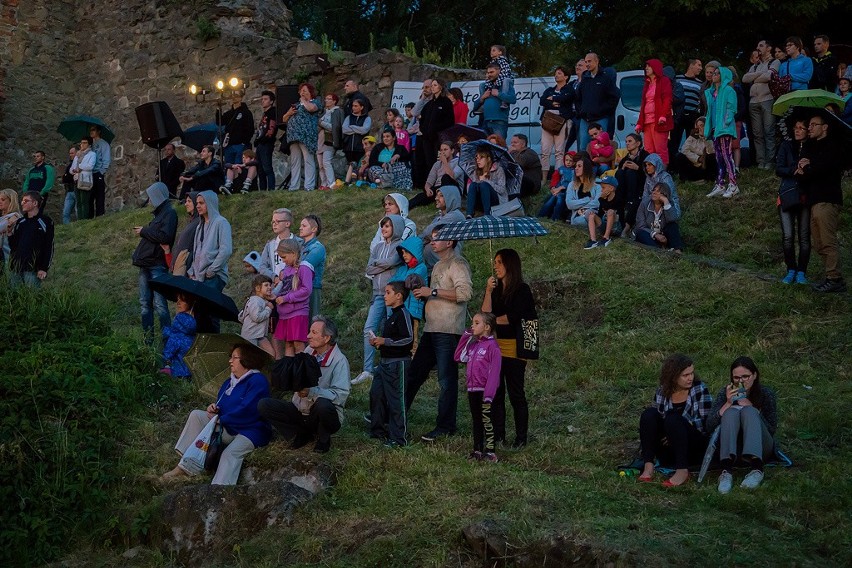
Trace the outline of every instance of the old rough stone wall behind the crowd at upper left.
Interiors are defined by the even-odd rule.
[[[200,15],[218,27],[218,38],[199,39]],[[70,143],[56,127],[68,115],[94,115],[116,135],[108,206],[121,208],[151,183],[156,169],[157,152],[141,141],[136,106],[165,101],[183,128],[210,122],[215,104],[196,103],[188,93],[192,83],[212,86],[236,75],[246,82],[249,100],[297,77],[342,95],[345,81],[355,78],[379,121],[394,81],[474,76],[386,50],[338,52],[323,69],[316,63],[322,47],[294,40],[289,18],[282,0],[99,0],[96,10],[68,0],[0,0],[0,180],[19,187],[37,148],[57,169],[64,167]],[[179,154],[195,157],[189,149]],[[277,162],[283,170],[283,160]]]

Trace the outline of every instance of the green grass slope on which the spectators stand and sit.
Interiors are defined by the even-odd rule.
[[[494,250],[519,250],[538,295],[543,351],[527,371],[530,446],[499,452],[496,465],[467,462],[470,417],[462,394],[461,436],[384,451],[366,437],[361,420],[369,389],[354,387],[347,423],[325,458],[336,486],[302,507],[291,525],[238,543],[211,565],[478,566],[461,529],[483,519],[503,524],[514,553],[541,551],[542,541],[565,536],[591,546],[602,561],[630,564],[852,563],[849,295],[769,281],[766,275],[784,273],[777,181],[748,172],[741,187],[743,195],[733,201],[705,199],[708,186],[680,187],[686,242],[680,257],[622,240],[584,251],[584,232],[549,222],[551,234],[538,243],[495,241]],[[848,182],[845,189],[849,198]],[[297,219],[319,214],[329,251],[323,311],[340,324],[341,347],[359,368],[369,298],[362,275],[380,197],[344,190],[223,200],[223,214],[237,228],[226,292],[237,304],[244,299],[249,278],[241,259],[263,246],[273,208],[290,207]],[[51,285],[97,293],[114,305],[114,327],[138,333],[131,228],[149,216],[123,212],[59,228]],[[412,214],[419,226],[431,216],[422,208]],[[849,227],[847,210],[841,222],[846,267],[852,266]],[[467,243],[464,253],[473,269],[474,310],[489,275],[489,245]],[[815,253],[810,266],[810,275],[820,277]],[[778,439],[795,466],[768,469],[763,487],[753,493],[737,487],[728,496],[716,492],[714,474],[709,483],[676,491],[618,477],[615,466],[636,451],[638,417],[653,396],[660,364],[676,351],[695,359],[714,395],[730,361],[753,357],[765,383],[778,391]],[[432,380],[414,404],[409,430],[415,439],[432,427],[436,392]],[[188,410],[177,408],[140,428],[132,451],[150,465],[138,476],[171,467],[170,447]],[[274,464],[292,455],[276,442],[248,463]],[[160,491],[142,487],[136,499],[144,500],[146,491],[155,499]],[[134,561],[119,554],[101,548],[95,557],[105,564],[170,562],[151,550]],[[540,563],[543,553],[537,558]]]

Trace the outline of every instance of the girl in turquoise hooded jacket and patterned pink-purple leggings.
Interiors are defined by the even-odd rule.
[[[707,103],[704,137],[713,140],[718,168],[716,185],[707,197],[721,195],[731,198],[740,192],[733,154],[733,142],[737,136],[737,93],[731,85],[732,81],[731,70],[720,66],[713,71],[712,86],[704,91],[704,100]],[[725,178],[728,180],[727,187]]]

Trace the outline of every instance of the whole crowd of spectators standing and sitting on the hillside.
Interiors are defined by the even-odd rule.
[[[845,282],[837,246],[843,157],[840,146],[829,137],[836,126],[824,114],[815,113],[795,120],[790,138],[777,144],[771,115],[775,83],[787,84],[788,91],[836,87],[848,101],[849,72],[838,72],[828,46],[828,38],[818,36],[817,56],[811,60],[804,55],[799,38],[788,38],[786,57],[779,62],[772,59],[773,46],[761,41],[743,80],[752,84],[747,109],[758,167],[774,169],[782,180],[777,206],[788,267],[783,281],[807,283],[813,235],[826,265],[826,278],[815,289],[837,292],[845,291]],[[300,85],[299,101],[282,115],[280,124],[275,93],[262,93],[257,125],[242,98],[235,97],[231,108],[218,117],[225,128],[221,160],[215,147],[204,146],[198,162],[187,168],[175,155],[175,147],[166,146],[158,180],[146,190],[153,219],[134,228],[139,244],[133,265],[139,268],[145,340],[154,342],[156,316],[163,339],[162,371],[175,378],[191,375],[184,355],[195,335],[217,333],[219,321],[206,314],[191,294],[178,295],[172,319],[166,299],[152,281],[171,273],[217,292],[224,289],[234,251],[232,227],[219,212],[219,198],[236,187],[249,191],[255,183],[260,189],[276,187],[272,155],[279,130],[286,131],[281,140],[289,153],[290,190],[312,190],[317,184],[319,189],[329,189],[337,184],[332,157],[338,150],[348,162],[347,181],[402,191],[422,189],[411,200],[400,192],[383,198],[381,220],[365,254],[371,294],[363,326],[363,367],[355,377],[350,377],[349,361],[337,345],[337,326],[322,315],[327,253],[319,241],[320,218],[305,215],[294,232],[296,217],[289,209],[272,212],[271,238],[258,247],[260,252],[250,251],[243,258],[245,271],[254,274],[239,314],[245,343],[232,349],[231,376],[216,402],[190,414],[175,446],[183,453],[206,423],[218,416],[227,449],[213,483],[236,483],[243,458],[267,444],[273,430],[293,447],[315,440],[315,451],[328,451],[331,436],[342,427],[351,388],[367,381],[371,381],[370,435],[397,447],[411,441],[412,403],[430,372],[437,370],[440,392],[435,427],[421,439],[433,442],[453,435],[458,430],[459,363],[466,364],[473,424],[470,458],[498,461],[497,444],[507,443],[507,393],[515,420],[512,445],[521,448],[528,443],[524,377],[527,361],[538,356],[539,343],[536,302],[524,283],[521,258],[513,249],[496,253],[494,276],[484,284],[482,305],[468,327],[474,288],[470,267],[461,243],[439,237],[449,223],[479,211],[492,213],[517,199],[517,194],[509,193],[505,164],[495,147],[506,149],[521,165],[522,193],[537,192],[543,172],[552,170],[546,176],[550,195],[538,214],[587,230],[586,249],[606,247],[615,236],[632,236],[649,246],[682,250],[682,211],[670,166],[682,179],[694,179],[692,170],[709,172],[715,164],[716,185],[708,197],[732,198],[740,192],[736,176],[742,148],[737,142],[742,138],[746,105],[744,92],[736,88],[735,70],[710,62],[703,67],[702,83],[698,60],[690,60],[686,73],[672,78],[671,69],[649,59],[636,131],[620,149],[609,134],[618,88],[612,73],[590,53],[575,66],[576,79],[569,81],[569,73],[559,67],[555,85],[542,94],[543,143],[536,155],[522,134],[512,136],[508,144],[505,140],[509,108],[516,102],[513,74],[504,47],[493,46],[491,56],[472,109],[458,89],[448,90],[441,79],[427,79],[419,100],[406,105],[405,116],[395,109],[387,111],[378,141],[370,135],[372,105],[358,84],[349,80],[343,99],[334,93],[320,98],[313,85]],[[828,110],[838,114],[839,109]],[[470,141],[465,135],[453,140],[442,133],[466,123],[471,113],[480,117],[493,146],[479,145],[472,170],[465,171],[459,153]],[[109,145],[97,127],[90,134],[80,140],[79,149],[69,151],[63,175],[66,222],[75,206],[79,219],[103,214]],[[688,136],[681,144],[684,134]],[[551,155],[556,159],[554,168],[550,168]],[[9,272],[16,283],[37,286],[47,276],[53,223],[43,209],[54,179],[44,152],[36,152],[20,206],[14,191],[0,192],[3,254],[11,261]],[[171,205],[176,196],[186,211],[180,232]],[[430,203],[436,208],[435,217],[418,233],[408,213],[412,207]],[[295,392],[289,402],[270,398],[268,381],[260,371],[263,352],[275,359],[313,356],[320,369],[317,386]],[[665,461],[675,470],[666,485],[684,483],[688,467],[703,454],[715,426],[721,428],[722,439],[719,491],[731,490],[731,469],[738,456],[751,468],[742,486],[758,486],[764,460],[775,449],[772,435],[777,417],[774,394],[760,385],[754,363],[737,359],[731,366],[731,384],[714,403],[707,387],[695,378],[692,362],[684,356],[670,357],[663,365],[654,407],[642,415],[645,466],[639,480],[650,481],[655,466]],[[164,478],[188,473],[178,465]]]

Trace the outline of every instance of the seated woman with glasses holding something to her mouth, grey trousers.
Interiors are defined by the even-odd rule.
[[[775,453],[775,431],[778,428],[775,391],[760,384],[760,372],[749,357],[738,357],[731,363],[731,382],[716,395],[707,416],[707,431],[719,431],[719,493],[733,487],[734,463],[739,458],[750,471],[740,487],[755,489],[763,481],[763,462]]]

